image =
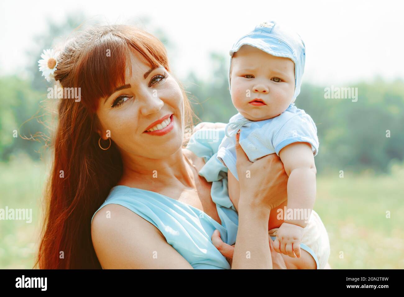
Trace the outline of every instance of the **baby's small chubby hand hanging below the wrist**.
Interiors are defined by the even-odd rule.
[[[304,228],[299,225],[282,223],[276,231],[274,250],[289,257],[300,258],[300,242]]]

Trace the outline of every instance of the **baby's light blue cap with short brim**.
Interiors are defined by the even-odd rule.
[[[300,93],[300,85],[304,72],[306,48],[300,35],[276,21],[260,23],[250,33],[242,36],[230,50],[230,64],[233,54],[244,44],[259,48],[261,51],[276,57],[285,57],[295,63],[295,100]],[[230,89],[230,67],[229,67]]]

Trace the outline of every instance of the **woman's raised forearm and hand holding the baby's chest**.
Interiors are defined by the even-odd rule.
[[[272,269],[268,248],[268,220],[272,208],[287,198],[288,176],[278,156],[248,160],[236,134],[237,173],[240,183],[239,224],[232,269]],[[269,171],[263,174],[262,168]]]

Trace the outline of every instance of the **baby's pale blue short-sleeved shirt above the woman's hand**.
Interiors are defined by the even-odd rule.
[[[291,103],[279,116],[268,120],[252,121],[240,113],[232,116],[226,126],[217,158],[227,166],[238,180],[236,168],[236,138],[234,134],[240,129],[240,145],[251,162],[263,156],[276,153],[286,145],[295,142],[308,142],[314,156],[318,153],[317,128],[313,119]]]

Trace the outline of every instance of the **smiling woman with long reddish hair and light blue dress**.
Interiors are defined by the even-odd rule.
[[[81,98],[59,103],[40,268],[229,269],[225,257],[231,268],[286,268],[267,232],[286,199],[282,162],[273,154],[251,163],[239,147],[240,176],[254,178],[240,178],[238,215],[224,205],[220,135],[193,135],[183,147],[192,111],[157,38],[125,25],[78,32],[54,77]],[[256,170],[263,165],[271,175]]]

